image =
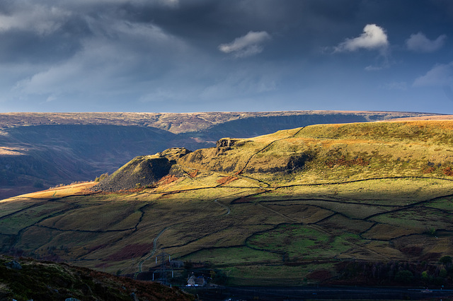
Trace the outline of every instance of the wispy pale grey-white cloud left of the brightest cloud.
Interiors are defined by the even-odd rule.
[[[219,50],[224,53],[233,53],[234,57],[250,57],[263,52],[261,44],[269,39],[270,35],[265,31],[249,31],[246,35],[234,39],[233,42],[219,45]]]

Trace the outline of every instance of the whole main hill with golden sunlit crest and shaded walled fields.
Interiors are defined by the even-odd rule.
[[[1,246],[137,277],[164,251],[185,262],[174,283],[450,287],[452,130],[319,124],[140,156],[98,186],[1,201]]]

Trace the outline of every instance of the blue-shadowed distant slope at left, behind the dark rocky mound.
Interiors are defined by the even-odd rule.
[[[8,129],[0,136],[0,185],[40,190],[94,179],[147,152],[168,148],[174,134],[139,126],[43,125]],[[8,151],[8,152],[6,152]]]

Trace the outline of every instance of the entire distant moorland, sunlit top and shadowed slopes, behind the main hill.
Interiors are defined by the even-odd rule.
[[[214,146],[320,123],[428,116],[406,112],[2,113],[0,199],[112,173],[137,155]]]

